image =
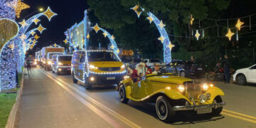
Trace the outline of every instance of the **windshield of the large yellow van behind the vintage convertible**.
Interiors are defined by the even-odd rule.
[[[117,55],[112,52],[100,51],[100,52],[87,52],[88,60],[90,62],[96,61],[119,61]]]

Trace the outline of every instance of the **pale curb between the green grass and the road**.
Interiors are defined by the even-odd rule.
[[[18,90],[18,95],[16,97],[16,102],[14,104],[14,107],[12,107],[12,109],[11,109],[11,112],[10,112],[10,115],[8,117],[7,124],[6,124],[5,128],[13,128],[14,127],[14,123],[15,123],[15,120],[16,120],[16,114],[17,114],[17,111],[18,111],[18,107],[20,106],[21,95],[22,95],[22,92],[23,92],[23,81],[24,81],[23,77],[24,77],[24,72],[21,75],[21,88]]]

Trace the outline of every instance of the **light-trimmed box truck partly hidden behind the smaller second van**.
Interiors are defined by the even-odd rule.
[[[41,49],[41,63],[45,70],[51,70],[51,58],[53,55],[63,55],[64,54],[63,47],[45,47]]]

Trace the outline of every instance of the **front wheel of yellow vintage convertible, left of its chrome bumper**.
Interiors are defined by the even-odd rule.
[[[159,96],[156,100],[156,114],[163,122],[172,122],[174,120],[175,111],[170,102],[165,97]]]

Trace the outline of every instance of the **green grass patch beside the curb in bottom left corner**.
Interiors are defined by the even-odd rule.
[[[0,94],[0,127],[5,127],[17,93]]]

